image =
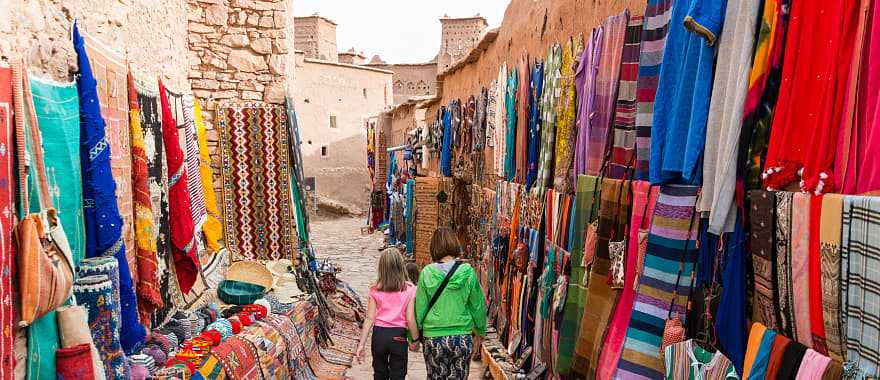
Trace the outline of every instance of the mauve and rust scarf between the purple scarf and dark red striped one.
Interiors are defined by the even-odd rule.
[[[590,138],[586,152],[586,171],[591,175],[600,175],[599,171],[605,166],[608,158],[606,154],[609,145],[608,135],[614,118],[614,104],[617,101],[618,78],[623,61],[629,16],[629,10],[624,9],[620,14],[609,17],[604,23],[602,55],[596,73],[596,113],[590,115]]]

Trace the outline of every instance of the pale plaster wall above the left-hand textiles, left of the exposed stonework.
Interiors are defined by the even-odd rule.
[[[72,80],[69,20],[128,57],[132,70],[188,92],[186,0],[0,0],[0,62],[24,57],[28,70]]]

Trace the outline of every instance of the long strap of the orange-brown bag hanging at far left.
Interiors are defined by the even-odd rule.
[[[37,116],[34,112],[34,99],[31,93],[30,81],[27,71],[24,70],[24,62],[13,65],[13,86],[15,87],[15,132],[18,141],[18,152],[24,160],[19,160],[19,186],[21,187],[22,208],[25,214],[29,211],[28,192],[28,166],[35,165],[37,175],[37,200],[40,208],[46,210],[52,208],[52,198],[49,194],[49,182],[46,177],[46,165],[43,161],[43,139],[40,135]],[[27,137],[25,136],[27,135]],[[25,138],[28,138],[31,146],[31,156],[27,155]],[[31,161],[30,159],[33,159]]]

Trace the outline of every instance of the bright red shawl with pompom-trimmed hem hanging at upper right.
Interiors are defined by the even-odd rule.
[[[833,164],[846,108],[858,5],[858,0],[792,2],[764,186],[781,189],[796,181],[803,169],[802,190],[835,190]]]

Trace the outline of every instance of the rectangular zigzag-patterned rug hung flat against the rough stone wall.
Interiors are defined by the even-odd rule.
[[[226,247],[235,259],[277,260],[295,249],[286,121],[283,107],[218,108]]]

